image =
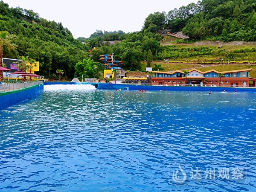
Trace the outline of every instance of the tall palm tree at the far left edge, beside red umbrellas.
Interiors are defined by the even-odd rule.
[[[3,66],[3,47],[9,47],[9,49],[14,49],[17,45],[12,44],[12,38],[15,35],[11,35],[7,31],[0,32],[0,67]],[[0,81],[3,81],[3,71],[0,71]]]

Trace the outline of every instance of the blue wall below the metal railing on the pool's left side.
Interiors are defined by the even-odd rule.
[[[35,84],[19,90],[0,92],[0,110],[16,105],[26,99],[30,99],[44,93],[44,84]]]

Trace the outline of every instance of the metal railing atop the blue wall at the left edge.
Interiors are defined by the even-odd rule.
[[[32,81],[32,82],[0,82],[0,92],[6,92],[11,90],[23,89],[26,87],[30,87],[35,84],[41,84],[40,81]]]

